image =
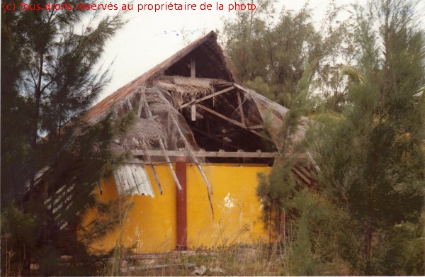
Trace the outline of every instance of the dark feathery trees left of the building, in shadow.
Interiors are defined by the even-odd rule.
[[[44,276],[96,274],[98,260],[87,245],[115,221],[82,226],[81,218],[89,208],[111,211],[113,203],[96,203],[94,187],[115,161],[108,144],[125,120],[113,123],[106,116],[93,125],[84,113],[108,83],[108,71],[98,61],[120,26],[120,14],[2,13],[1,270],[6,274],[28,276],[34,273],[31,263]]]

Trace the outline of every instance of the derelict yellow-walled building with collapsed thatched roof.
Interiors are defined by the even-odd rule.
[[[214,32],[103,99],[86,119],[96,123],[111,111],[137,113],[111,145],[132,158],[96,191],[101,201],[131,199],[125,246],[142,253],[266,242],[257,174],[271,170],[288,110],[238,81]],[[312,182],[305,168],[293,172]],[[96,249],[113,248],[117,236]]]

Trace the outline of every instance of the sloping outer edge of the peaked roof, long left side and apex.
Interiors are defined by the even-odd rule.
[[[214,31],[211,31],[210,33],[208,33],[208,35],[205,35],[204,37],[198,38],[198,40],[193,41],[193,43],[179,50],[174,55],[164,60],[164,62],[157,64],[155,67],[145,72],[145,74],[142,74],[140,77],[137,77],[133,81],[130,81],[130,83],[126,84],[125,86],[120,87],[120,89],[115,91],[113,94],[107,96],[102,101],[97,103],[89,111],[87,111],[85,116],[86,122],[97,122],[109,111],[111,111],[116,103],[119,103],[120,101],[125,100],[125,98],[127,98],[128,96],[132,95],[132,93],[137,90],[137,86],[142,86],[143,84],[146,84],[147,81],[153,79],[154,77],[157,77],[159,74],[162,74],[162,72],[164,72],[164,70],[166,70],[167,68],[171,67],[172,64],[179,61],[182,57],[188,55],[192,50],[195,50],[196,47],[199,47],[203,43],[207,43],[211,40],[212,43],[215,43],[215,45],[217,45],[217,54],[220,56],[222,63],[225,65],[225,69],[229,74],[229,77],[232,79],[232,81],[237,81],[237,77],[235,77],[232,70],[229,69],[225,55],[222,52],[220,45],[218,45],[217,43],[217,34]]]

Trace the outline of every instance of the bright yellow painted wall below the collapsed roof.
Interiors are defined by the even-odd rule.
[[[137,244],[137,253],[163,252],[176,247],[176,184],[169,167],[156,165],[162,184],[160,195],[152,171],[147,174],[156,197],[132,196],[133,206],[123,224],[123,244]],[[259,200],[256,198],[259,172],[268,174],[270,167],[261,165],[208,164],[203,170],[212,186],[214,218],[208,203],[207,187],[195,164],[187,164],[188,248],[218,247],[238,242],[266,241],[261,222]],[[118,198],[113,176],[103,180],[103,193],[96,190],[98,200]],[[110,250],[115,246],[118,230],[94,244],[96,249]]]

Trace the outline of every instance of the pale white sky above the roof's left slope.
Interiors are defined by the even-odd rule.
[[[203,32],[220,30],[222,18],[232,16],[232,11],[140,11],[137,4],[168,3],[174,0],[134,0],[135,10],[128,13],[130,22],[108,43],[104,61],[112,64],[112,81],[103,92],[101,98],[112,94],[113,91],[139,77],[159,62],[174,54],[185,46],[182,30],[191,33],[190,41],[199,38]],[[234,0],[175,0],[177,3],[202,4],[204,1],[213,4],[218,1],[222,4],[234,3]],[[239,1],[237,2],[246,2]],[[425,0],[420,0],[425,2]],[[300,9],[306,0],[278,0],[276,9]],[[366,0],[336,0],[336,4],[365,4]],[[116,1],[116,3],[124,3]],[[254,1],[255,3],[255,1]],[[310,0],[310,7],[314,9],[315,18],[322,18],[324,10],[329,5],[328,0]]]

